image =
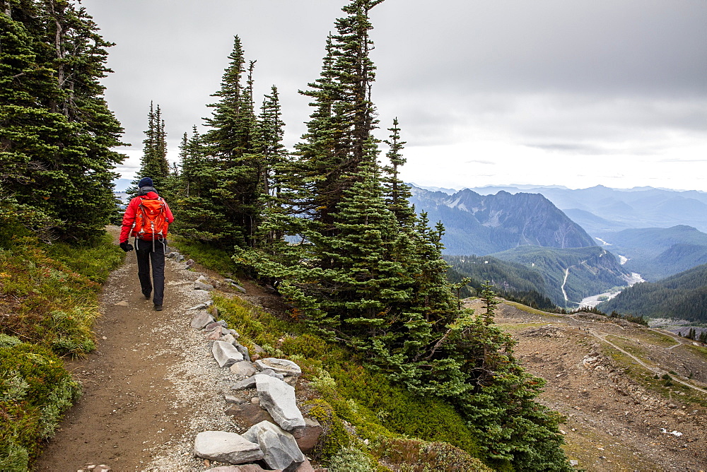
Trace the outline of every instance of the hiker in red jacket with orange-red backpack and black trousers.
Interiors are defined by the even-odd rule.
[[[135,253],[137,254],[137,275],[140,279],[142,294],[149,300],[152,298],[157,311],[162,310],[165,295],[165,247],[167,246],[167,229],[175,218],[172,211],[157,193],[150,177],[141,179],[138,184],[137,196],[125,208],[123,225],[120,230],[119,245],[125,252],[133,250],[128,237],[135,237]],[[152,280],[150,281],[150,262],[152,261]],[[154,286],[153,286],[154,285]]]

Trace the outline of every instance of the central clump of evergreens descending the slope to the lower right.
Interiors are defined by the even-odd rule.
[[[284,208],[282,234],[297,242],[279,239],[277,254],[240,250],[235,259],[279,281],[293,316],[312,329],[414,394],[452,403],[479,434],[489,463],[569,470],[559,417],[533,401],[542,379],[522,370],[513,338],[493,324],[494,294],[485,317],[460,310],[446,281],[443,226],[430,228],[426,215],[408,208],[397,120],[387,141],[390,165],[378,165],[368,59],[368,12],[376,4],[344,6],[320,78],[305,92],[314,110],[307,133],[296,160],[282,161],[287,177],[273,208]]]

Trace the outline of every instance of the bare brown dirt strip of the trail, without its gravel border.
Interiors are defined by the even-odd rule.
[[[195,275],[182,267],[168,259],[162,312],[141,294],[134,252],[112,273],[102,295],[103,317],[95,326],[98,348],[88,359],[66,366],[81,382],[83,396],[35,470],[77,471],[89,464],[141,470],[151,461],[153,444],[164,444],[183,430],[183,418],[191,412],[188,405],[174,408],[177,394],[168,379],[183,354],[163,349],[174,343],[173,332],[155,329],[184,318],[185,305],[194,302],[182,289]],[[188,321],[181,324],[188,326]],[[183,333],[191,334],[186,327]]]

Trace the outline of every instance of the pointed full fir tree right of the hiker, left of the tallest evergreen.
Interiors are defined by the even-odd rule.
[[[205,119],[210,129],[182,168],[189,196],[182,200],[180,228],[218,247],[251,247],[262,218],[264,167],[252,99],[255,62],[244,85],[245,57],[238,36],[228,59],[221,89],[214,93],[219,100],[209,105],[214,112]]]

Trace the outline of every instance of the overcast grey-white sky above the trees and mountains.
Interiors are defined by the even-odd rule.
[[[279,88],[292,146],[342,0],[83,0],[110,49],[106,97],[139,167],[150,101],[170,160],[221,83],[233,36]],[[371,12],[381,130],[407,182],[707,191],[707,1],[386,0]],[[385,149],[383,150],[385,151]]]

